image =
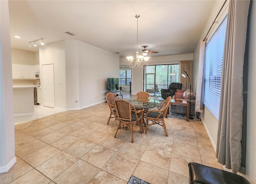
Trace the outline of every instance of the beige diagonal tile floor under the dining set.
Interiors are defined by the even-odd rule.
[[[151,184],[188,183],[188,163],[222,168],[201,121],[166,118],[134,143],[118,130],[101,103],[15,125],[17,163],[0,174],[1,184],[126,184],[134,175]]]

